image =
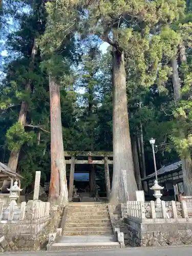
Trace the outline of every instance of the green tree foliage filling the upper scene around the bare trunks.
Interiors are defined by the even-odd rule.
[[[157,138],[159,167],[178,154],[188,157],[192,147],[190,5],[185,10],[180,0],[99,1],[99,6],[80,0],[52,1],[46,6],[41,0],[9,2],[19,26],[7,36],[5,79],[0,86],[0,155],[7,162],[8,149],[20,149],[19,172],[26,178],[25,186],[32,183],[36,170],[41,171],[42,182],[50,176],[49,75],[60,84],[65,150],[113,151],[111,48],[105,54],[98,50],[99,37],[112,38],[112,33],[125,56],[131,135],[140,136],[142,124],[147,166],[153,162],[150,137]],[[29,11],[18,15],[22,5]],[[4,21],[9,16],[7,7]],[[38,51],[31,68],[34,37]],[[179,62],[182,100],[175,105],[170,59],[178,57],[180,44],[186,47],[187,61]],[[28,81],[31,91],[26,92]],[[16,122],[22,101],[29,105],[26,124],[30,126]]]

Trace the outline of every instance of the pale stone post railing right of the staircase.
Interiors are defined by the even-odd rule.
[[[148,219],[190,218],[192,204],[185,201],[151,202],[128,201],[121,205],[122,218],[147,221]],[[191,216],[192,217],[192,216]]]

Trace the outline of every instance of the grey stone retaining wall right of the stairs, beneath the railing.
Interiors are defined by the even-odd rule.
[[[178,246],[192,244],[192,222],[186,219],[167,219],[144,223],[124,218],[125,245]]]

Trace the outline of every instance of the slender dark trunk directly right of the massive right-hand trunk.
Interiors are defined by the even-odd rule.
[[[132,137],[132,151],[133,151],[133,161],[134,161],[135,179],[136,179],[137,187],[139,190],[142,190],[139,158],[138,158],[138,152],[137,152],[137,141],[135,136]]]

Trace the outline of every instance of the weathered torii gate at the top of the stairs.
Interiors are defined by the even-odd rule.
[[[72,201],[73,198],[75,164],[104,164],[106,197],[109,200],[111,193],[109,164],[113,164],[113,160],[108,158],[113,158],[113,152],[66,151],[64,152],[64,155],[66,158],[70,158],[69,160],[66,160],[66,164],[71,164],[69,179],[69,201]],[[76,159],[77,157],[83,157],[85,159],[78,160]],[[92,160],[92,157],[100,157],[102,160]]]

